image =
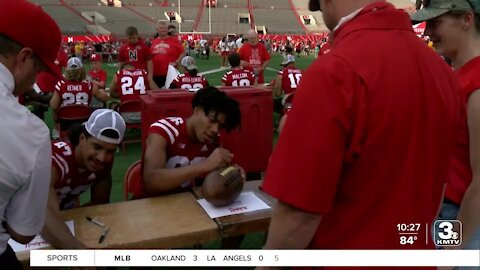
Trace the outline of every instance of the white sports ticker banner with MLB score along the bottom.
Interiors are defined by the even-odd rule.
[[[480,266],[480,251],[32,250],[30,266]]]

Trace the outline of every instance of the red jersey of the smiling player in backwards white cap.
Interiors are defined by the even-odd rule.
[[[111,165],[106,166],[98,173],[78,168],[75,147],[62,140],[52,142],[52,166],[58,175],[55,190],[62,210],[75,207],[76,198],[112,168]]]

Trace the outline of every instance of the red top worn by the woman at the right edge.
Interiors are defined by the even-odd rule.
[[[452,202],[460,203],[463,195],[467,191],[468,186],[472,182],[472,168],[470,166],[470,136],[468,133],[467,111],[466,106],[468,98],[480,89],[480,57],[476,57],[467,62],[457,72],[460,82],[463,109],[461,111],[460,132],[457,139],[457,145],[452,158],[451,171],[449,173],[449,181],[445,190],[445,198]]]

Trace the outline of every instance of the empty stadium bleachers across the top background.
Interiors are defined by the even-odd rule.
[[[252,7],[254,24],[265,26],[270,34],[305,34],[327,31],[320,12],[308,10],[306,0],[219,0],[211,9],[211,25],[208,8],[200,0],[154,1],[122,0],[122,7],[110,7],[101,0],[31,0],[44,9],[59,23],[64,34],[86,34],[101,32],[123,36],[125,28],[134,25],[141,35],[152,35],[157,20],[167,20],[165,12],[177,12],[182,22],[174,22],[180,32],[210,33],[213,35],[245,33],[250,24],[239,23],[239,13],[249,13]],[[390,1],[399,8],[412,5],[412,0]],[[95,20],[91,14],[106,18],[106,22]],[[83,15],[82,15],[83,14]],[[311,15],[316,24],[303,25],[304,15]],[[297,17],[298,16],[298,17]],[[299,20],[300,18],[300,20]]]

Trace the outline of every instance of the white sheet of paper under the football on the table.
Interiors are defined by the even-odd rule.
[[[224,217],[270,208],[270,206],[251,191],[242,192],[235,202],[226,206],[215,207],[205,199],[197,200],[197,202],[203,207],[203,210],[207,212],[210,218]]]

